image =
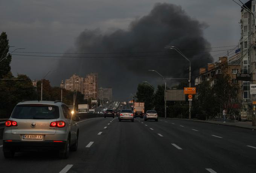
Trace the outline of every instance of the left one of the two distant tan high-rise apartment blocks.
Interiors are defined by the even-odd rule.
[[[63,85],[61,84],[63,87]],[[65,80],[65,89],[70,91],[79,91],[84,93],[84,78],[79,77],[76,74],[73,74],[69,79]]]

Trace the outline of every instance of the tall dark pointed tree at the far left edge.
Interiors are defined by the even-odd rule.
[[[8,54],[8,52],[9,40],[7,39],[7,34],[2,32],[0,35],[0,60],[2,60],[2,62],[0,62],[0,78],[3,78],[3,76],[8,75],[8,73],[11,72],[10,64],[12,61],[12,56],[11,54]]]

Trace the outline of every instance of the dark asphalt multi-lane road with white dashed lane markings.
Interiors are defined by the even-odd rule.
[[[256,172],[256,133],[248,129],[171,119],[119,122],[110,117],[78,124],[78,150],[69,159],[51,152],[5,159],[0,148],[0,172]]]

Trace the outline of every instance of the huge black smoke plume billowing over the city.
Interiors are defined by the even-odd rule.
[[[212,62],[212,56],[206,52],[210,44],[203,37],[206,26],[189,17],[180,6],[157,3],[148,15],[131,22],[128,30],[84,30],[75,49],[68,52],[90,54],[76,54],[79,58],[70,63],[60,61],[59,68],[65,71],[65,77],[75,72],[81,76],[98,72],[99,87],[112,87],[114,98],[122,101],[136,92],[142,81],[163,83],[160,76],[148,69],[166,77],[188,78],[189,62],[177,52],[165,49],[166,45],[177,46],[190,59],[193,76],[200,67]]]

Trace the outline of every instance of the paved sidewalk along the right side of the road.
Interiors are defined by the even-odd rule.
[[[256,130],[256,126],[251,126],[251,122],[226,122],[226,123],[224,123],[222,121],[215,121],[215,120],[195,120],[195,119],[189,120],[189,119],[179,119],[179,118],[168,118],[168,119],[196,121],[196,122],[202,122],[202,123],[211,123],[211,124],[218,124],[218,125],[233,126],[233,127]]]

